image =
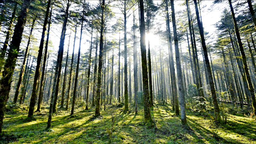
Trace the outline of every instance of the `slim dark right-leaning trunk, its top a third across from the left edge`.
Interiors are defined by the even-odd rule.
[[[85,13],[85,0],[83,2],[82,24],[81,24],[81,31],[80,31],[80,41],[79,41],[79,49],[78,49],[77,64],[76,64],[76,76],[75,76],[75,80],[74,80],[74,91],[73,91],[73,99],[72,99],[72,107],[71,107],[71,114],[70,115],[74,114],[74,104],[75,104],[75,101],[76,101],[76,89],[77,89],[77,79],[78,79],[78,73],[79,73],[80,49],[81,49],[81,41],[82,41],[84,13]]]

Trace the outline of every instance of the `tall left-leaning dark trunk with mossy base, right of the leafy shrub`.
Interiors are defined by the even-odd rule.
[[[205,65],[207,68],[207,75],[209,78],[209,84],[210,84],[210,90],[211,90],[211,97],[213,99],[213,105],[214,105],[214,112],[215,112],[215,121],[219,122],[221,120],[220,118],[220,109],[219,109],[219,104],[217,101],[217,95],[216,95],[216,90],[213,82],[213,76],[211,74],[211,67],[210,67],[210,62],[208,58],[208,53],[207,53],[207,48],[205,45],[205,39],[204,39],[204,28],[202,27],[202,23],[199,18],[199,12],[198,12],[198,7],[197,7],[197,2],[194,0],[195,3],[195,11],[196,11],[196,20],[199,28],[199,33],[201,36],[201,43],[202,43],[202,48],[204,51],[204,59],[205,59]]]

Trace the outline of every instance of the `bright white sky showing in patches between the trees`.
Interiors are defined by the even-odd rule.
[[[160,0],[155,0],[154,1],[155,4],[159,4],[160,2],[161,2]],[[191,2],[193,2],[193,1],[191,1]],[[97,0],[92,0],[92,1],[89,1],[89,3],[96,6],[98,4],[98,1]],[[181,0],[179,0],[179,1],[175,0],[174,1],[174,6],[175,6],[174,8],[175,8],[175,13],[176,13],[176,23],[179,22],[179,19],[178,19],[179,16],[177,15],[177,12],[179,12],[180,10],[186,10],[186,6],[184,6],[184,5],[181,6],[182,3],[184,3],[184,1],[181,1]],[[115,1],[111,4],[117,4],[118,5],[118,2]],[[216,28],[214,27],[214,24],[216,24],[216,22],[218,22],[220,20],[221,12],[227,6],[227,4],[225,4],[225,3],[217,4],[214,7],[212,7],[212,5],[213,5],[212,0],[205,0],[205,1],[202,1],[202,3],[200,4],[200,7],[201,7],[202,23],[203,23],[203,26],[204,26],[204,30],[209,32],[209,34],[212,35],[212,37],[214,37],[215,31],[216,31]],[[171,7],[169,7],[169,14],[171,13],[170,9],[171,9]],[[123,15],[121,14],[120,9],[118,9],[116,7],[112,7],[112,11],[115,12],[116,17],[123,18]],[[130,10],[129,13],[131,13],[131,12],[132,12],[132,10]],[[193,8],[193,6],[191,6],[191,12],[195,13],[195,9]],[[135,11],[135,16],[136,16],[136,22],[138,24],[138,9],[137,9],[137,7],[136,7],[136,11]],[[171,20],[171,16],[170,16],[170,20]],[[186,21],[188,21],[188,20],[186,19]],[[112,18],[111,21],[109,22],[109,25],[113,25],[115,23],[116,23],[116,18]],[[157,30],[158,27],[160,27],[160,29],[163,30],[163,31],[166,30],[165,19],[163,18],[161,12],[159,12],[156,15],[155,20],[154,20],[153,23],[154,24],[162,23],[162,25],[161,26],[155,25],[154,28],[151,28],[150,32],[152,32],[152,33],[150,33],[149,35],[146,35],[146,42],[147,42],[147,39],[149,39],[150,40],[150,49],[152,49],[152,51],[154,51],[154,49],[155,49],[155,52],[158,52],[159,43],[163,43],[163,42],[159,42],[159,37],[154,35],[153,33]],[[171,22],[170,22],[170,26],[172,26]],[[132,27],[132,15],[127,19],[127,31],[131,31],[131,27]],[[59,48],[61,28],[62,28],[62,24],[57,24],[57,25],[52,24],[51,25],[51,31],[50,31],[50,36],[49,37],[50,37],[50,40],[52,42],[52,47],[50,47],[49,49],[54,50],[55,52],[57,52],[58,48]],[[172,29],[172,27],[171,27],[171,29]],[[70,34],[70,30],[67,30],[67,34]],[[38,27],[37,30],[34,30],[33,35],[34,35],[34,37],[37,38],[37,42],[34,42],[31,45],[39,47],[40,38],[41,38],[41,35],[42,35],[42,28]],[[139,35],[138,30],[137,30],[136,35],[137,36]],[[79,49],[80,27],[77,28],[76,36],[77,36],[77,39],[76,39],[75,49],[74,49],[75,53],[77,53],[78,49]],[[96,34],[94,33],[93,36],[95,37]],[[118,37],[119,37],[118,34],[113,34],[113,33],[107,34],[107,39],[108,40],[113,39],[113,38],[118,39]],[[124,33],[121,32],[121,39],[123,37],[124,37]],[[131,37],[132,37],[131,34],[127,34],[128,39],[131,38]],[[90,40],[91,40],[91,34],[88,31],[83,30],[82,43],[81,43],[81,53],[85,53],[89,50],[89,46],[90,46],[89,41]],[[69,48],[70,56],[71,56],[71,53],[72,53],[71,50],[73,48],[73,41],[74,41],[74,32],[72,31],[71,32],[71,38],[70,38],[70,48]],[[64,52],[66,52],[67,49],[68,49],[67,48],[68,42],[69,42],[69,35],[66,36],[66,39],[65,39]],[[183,53],[188,52],[188,43],[186,41],[184,41],[182,43],[179,43],[179,45],[181,45]],[[26,46],[26,42],[24,42],[21,47],[24,49],[25,46]],[[173,48],[174,48],[174,45],[173,45]],[[123,49],[124,49],[124,43],[121,43],[121,50],[123,50]],[[137,50],[139,50],[139,48]],[[167,46],[162,46],[162,51],[165,52],[165,53],[168,53]],[[174,50],[173,50],[173,52],[174,52]],[[117,53],[117,50],[115,51],[115,53]],[[202,56],[200,55],[200,53],[198,53],[198,54],[199,54],[199,59],[202,60]],[[57,56],[55,56],[55,57],[57,57]]]

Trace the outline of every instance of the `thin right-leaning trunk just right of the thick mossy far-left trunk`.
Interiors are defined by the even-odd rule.
[[[33,19],[31,30],[30,30],[30,34],[29,34],[29,37],[28,37],[28,44],[27,44],[27,48],[25,50],[24,59],[23,59],[22,65],[21,65],[21,71],[19,73],[19,80],[18,80],[18,84],[17,84],[17,87],[16,87],[16,92],[15,92],[14,99],[13,99],[13,104],[16,104],[16,102],[18,100],[19,90],[21,88],[21,81],[22,81],[22,78],[23,78],[23,75],[24,75],[24,71],[25,71],[25,64],[26,64],[26,60],[27,60],[28,49],[29,49],[30,40],[31,40],[33,29],[34,29],[35,21],[36,21],[36,17]]]

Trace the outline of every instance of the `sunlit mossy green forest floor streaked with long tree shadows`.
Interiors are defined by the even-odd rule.
[[[109,142],[107,128],[111,128],[110,111],[101,110],[101,117],[94,117],[95,107],[82,110],[75,107],[73,116],[70,110],[59,110],[52,117],[52,130],[45,131],[48,109],[35,113],[36,120],[26,120],[28,106],[7,105],[0,143],[12,144],[105,144]],[[119,105],[120,106],[120,105]],[[211,121],[213,108],[200,114],[186,110],[188,127],[181,125],[180,116],[174,116],[170,104],[155,105],[151,114],[155,126],[143,125],[143,105],[138,105],[138,114],[129,105],[129,112],[122,107],[116,110],[117,119],[113,129],[112,144],[256,144],[256,120],[246,110],[231,104],[224,104],[226,123],[216,124]],[[156,129],[157,128],[157,129]]]

